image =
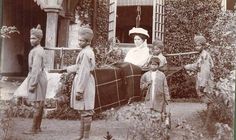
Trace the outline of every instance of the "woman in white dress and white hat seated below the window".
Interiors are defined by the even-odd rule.
[[[149,60],[149,48],[147,39],[148,31],[143,28],[132,28],[129,35],[134,38],[135,47],[130,49],[125,56],[124,62],[129,62],[139,67],[144,66]]]

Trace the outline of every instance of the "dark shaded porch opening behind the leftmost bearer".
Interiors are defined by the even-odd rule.
[[[26,75],[27,58],[31,49],[30,29],[41,24],[45,32],[46,13],[33,0],[3,0],[2,14],[2,25],[16,26],[20,34],[13,34],[10,39],[2,39],[0,73]]]

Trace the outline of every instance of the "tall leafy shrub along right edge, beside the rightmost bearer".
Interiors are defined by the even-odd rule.
[[[213,100],[211,118],[214,118],[215,122],[227,124],[231,128],[233,127],[233,106],[235,104],[235,20],[235,13],[221,12],[210,31],[212,40],[209,46],[209,52],[215,64],[213,70],[215,88],[213,93],[209,95]],[[216,125],[217,129],[221,129],[219,127],[221,125]],[[220,137],[219,134],[217,135]]]

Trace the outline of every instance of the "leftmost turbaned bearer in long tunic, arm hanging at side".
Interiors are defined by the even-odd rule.
[[[30,43],[33,49],[28,56],[29,74],[27,76],[28,100],[34,107],[33,124],[25,134],[35,134],[41,132],[41,122],[43,115],[44,100],[47,90],[47,77],[44,71],[45,52],[40,45],[43,38],[43,31],[40,25],[30,30]]]

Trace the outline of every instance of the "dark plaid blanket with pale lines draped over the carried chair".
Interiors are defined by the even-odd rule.
[[[101,112],[140,100],[141,73],[138,66],[129,63],[119,63],[114,68],[95,69],[95,111]]]

